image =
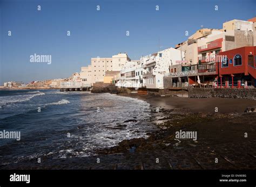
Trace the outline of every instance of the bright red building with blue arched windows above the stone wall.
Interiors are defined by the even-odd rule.
[[[256,47],[240,47],[216,55],[218,85],[256,86]]]

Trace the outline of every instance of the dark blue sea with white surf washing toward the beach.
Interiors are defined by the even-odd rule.
[[[0,164],[42,156],[51,159],[95,155],[125,139],[147,138],[150,105],[110,93],[59,90],[0,90]]]

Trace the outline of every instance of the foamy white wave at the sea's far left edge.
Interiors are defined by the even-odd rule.
[[[0,100],[0,105],[25,102],[32,99],[33,97],[43,96],[43,95],[45,95],[45,93],[35,92],[35,94],[29,94],[29,95],[3,96]]]

